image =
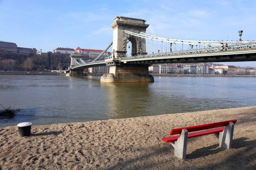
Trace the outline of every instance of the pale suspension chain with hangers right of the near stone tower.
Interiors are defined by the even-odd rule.
[[[198,52],[220,51],[222,48],[223,49],[227,48],[227,46],[229,46],[229,49],[233,49],[233,47],[236,48],[235,46],[237,45],[241,46],[241,44],[256,42],[254,40],[243,41],[243,42],[183,40],[183,39],[175,39],[175,38],[168,38],[168,37],[160,37],[157,35],[147,34],[145,32],[134,31],[134,30],[124,30],[124,34],[125,34],[125,37],[129,38],[131,42],[131,46],[136,46],[138,42],[140,43],[139,45],[137,45],[141,48],[140,50],[134,49],[134,47],[132,47],[131,56],[140,56],[140,55],[147,55],[147,54],[156,55],[156,54],[163,54],[163,53],[166,54],[170,52],[173,55],[177,55],[177,54],[188,54],[196,51]],[[138,42],[134,43],[134,40],[138,40]],[[129,55],[127,55],[126,57],[129,57]]]

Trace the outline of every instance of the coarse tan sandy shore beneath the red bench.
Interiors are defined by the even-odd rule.
[[[237,119],[233,148],[214,135],[188,139],[187,159],[163,142],[172,128]],[[255,170],[256,107],[94,122],[0,128],[0,170]]]

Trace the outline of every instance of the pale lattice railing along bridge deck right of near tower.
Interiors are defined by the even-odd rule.
[[[171,51],[165,53],[157,53],[157,54],[145,54],[139,56],[130,56],[130,57],[122,57],[121,61],[128,59],[140,59],[140,58],[151,58],[151,57],[164,57],[164,56],[176,56],[176,55],[186,55],[186,54],[200,54],[200,53],[209,53],[209,52],[218,52],[218,51],[234,51],[234,50],[245,50],[250,48],[256,48],[256,42],[250,43],[240,43],[235,45],[222,45],[219,47],[208,47],[208,48],[197,48],[197,49],[189,49],[183,51]]]

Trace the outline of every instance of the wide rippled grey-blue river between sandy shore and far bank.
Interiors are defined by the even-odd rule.
[[[251,77],[154,77],[154,83],[102,83],[100,77],[0,75],[0,104],[20,109],[0,127],[48,125],[256,105]],[[0,108],[1,110],[1,108]]]

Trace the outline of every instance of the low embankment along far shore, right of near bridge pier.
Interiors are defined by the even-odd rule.
[[[256,75],[218,75],[218,74],[151,74],[159,77],[256,77]]]

